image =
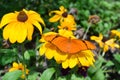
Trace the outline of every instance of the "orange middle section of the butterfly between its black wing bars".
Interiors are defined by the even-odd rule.
[[[60,49],[62,52],[65,53],[77,53],[81,50],[86,50],[86,45],[81,41],[77,39],[71,39],[66,37],[56,37],[52,43]]]

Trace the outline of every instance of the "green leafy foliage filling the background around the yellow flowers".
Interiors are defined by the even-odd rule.
[[[99,33],[109,36],[112,29],[120,29],[119,0],[0,0],[0,20],[6,13],[20,11],[25,8],[34,10],[41,15],[46,24],[46,28],[43,28],[43,33],[51,31],[51,28],[54,28],[55,31],[58,23],[53,24],[48,21],[50,18],[49,12],[58,10],[61,5],[67,8],[69,13],[71,9],[75,10],[72,14],[75,17],[78,29],[87,29],[90,15],[98,15],[100,17],[100,22],[92,24],[90,27],[88,37],[98,35]],[[37,32],[36,29],[35,31]],[[96,62],[88,69],[87,77],[82,77],[78,74],[78,68],[68,70],[66,75],[62,75],[61,65],[57,64],[54,60],[47,60],[45,57],[39,55],[38,49],[41,46],[41,43],[39,43],[41,35],[38,36],[36,33],[34,35],[34,39],[31,42],[25,42],[25,44],[28,44],[24,46],[22,53],[21,44],[9,44],[10,47],[8,48],[3,46],[2,29],[0,30],[0,77],[2,77],[2,80],[21,80],[20,76],[22,72],[20,70],[6,72],[12,66],[13,62],[23,62],[27,65],[27,68],[30,70],[30,73],[27,75],[29,80],[120,79],[119,50],[113,53],[112,51],[107,52],[105,56],[97,53]],[[119,44],[119,40],[117,43]]]

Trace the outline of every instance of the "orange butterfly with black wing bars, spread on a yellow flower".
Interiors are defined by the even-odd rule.
[[[96,48],[89,41],[66,38],[60,35],[47,35],[44,39],[55,45],[60,51],[70,54]]]

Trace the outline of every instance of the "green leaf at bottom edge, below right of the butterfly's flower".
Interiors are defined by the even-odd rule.
[[[105,75],[102,69],[97,70],[95,75],[93,75],[92,80],[105,80]]]

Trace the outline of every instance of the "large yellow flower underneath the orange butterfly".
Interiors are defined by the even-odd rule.
[[[63,34],[64,33],[64,34]],[[47,35],[61,35],[67,38],[75,38],[71,31],[59,30],[59,33],[49,32],[43,34],[40,41],[44,42],[39,49],[40,55],[45,55],[47,59],[54,58],[57,63],[61,63],[64,69],[73,68],[76,65],[78,66],[91,66],[95,62],[94,54],[90,50],[81,51],[78,53],[70,54],[64,53],[59,50],[55,45],[45,40]],[[63,46],[64,47],[64,46]]]

